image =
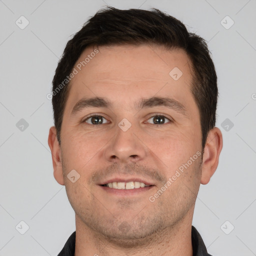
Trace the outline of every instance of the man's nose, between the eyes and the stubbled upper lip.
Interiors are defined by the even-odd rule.
[[[128,163],[145,158],[147,148],[139,139],[138,132],[133,133],[132,126],[123,131],[116,126],[116,134],[109,141],[104,150],[104,156],[110,162]]]

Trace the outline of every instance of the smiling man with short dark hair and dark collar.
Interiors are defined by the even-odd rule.
[[[157,9],[98,11],[53,78],[48,144],[76,231],[58,255],[209,255],[192,226],[218,165],[206,43]]]

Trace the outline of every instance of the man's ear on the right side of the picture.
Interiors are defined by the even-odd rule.
[[[222,149],[222,134],[219,128],[214,127],[208,132],[202,157],[201,184],[209,182],[210,177],[218,166],[218,158]]]

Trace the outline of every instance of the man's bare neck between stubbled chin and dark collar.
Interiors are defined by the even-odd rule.
[[[164,230],[123,245],[91,230],[76,215],[75,256],[192,256],[191,225],[192,214]]]

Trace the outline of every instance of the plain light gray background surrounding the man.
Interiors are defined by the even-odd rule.
[[[70,35],[106,4],[159,8],[207,40],[224,145],[215,174],[200,187],[193,225],[210,254],[256,255],[256,0],[0,0],[0,255],[57,255],[75,230],[65,189],[52,175],[46,94]],[[29,21],[24,29],[15,23],[25,24],[21,15]]]

